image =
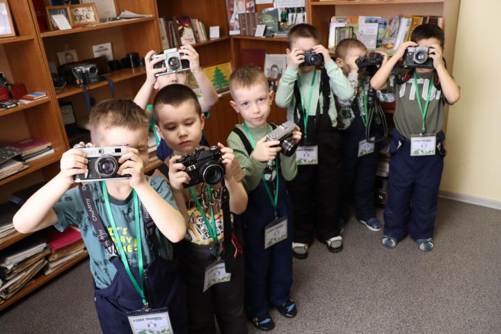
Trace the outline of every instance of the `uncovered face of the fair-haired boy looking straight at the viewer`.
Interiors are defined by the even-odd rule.
[[[233,101],[230,105],[242,118],[248,127],[266,127],[270,113],[273,92],[268,85],[255,84],[251,87],[241,87],[232,90]]]

